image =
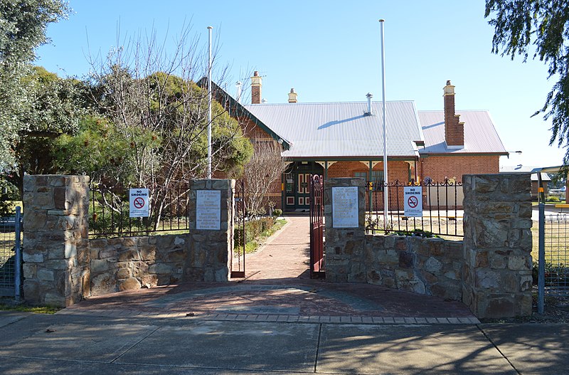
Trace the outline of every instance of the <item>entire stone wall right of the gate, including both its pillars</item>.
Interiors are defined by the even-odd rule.
[[[450,300],[477,317],[531,314],[528,174],[462,177],[464,241],[366,236],[359,179],[326,179],[326,280],[368,282]],[[358,186],[358,228],[334,228],[331,190]]]

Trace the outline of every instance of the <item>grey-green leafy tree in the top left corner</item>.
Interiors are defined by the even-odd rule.
[[[32,98],[23,78],[30,73],[35,49],[48,42],[48,24],[69,12],[62,0],[0,1],[0,169],[13,166],[11,144],[26,128],[23,113]]]

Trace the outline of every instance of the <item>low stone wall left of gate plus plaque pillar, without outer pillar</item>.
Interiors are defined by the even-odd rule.
[[[92,295],[175,284],[182,281],[228,281],[233,242],[233,189],[224,179],[190,182],[190,231],[90,240]],[[220,191],[220,229],[196,229],[196,191]]]

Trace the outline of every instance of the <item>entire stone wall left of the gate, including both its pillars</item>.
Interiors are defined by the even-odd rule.
[[[25,176],[24,300],[68,306],[89,295],[181,281],[227,281],[233,180],[190,184],[190,231],[88,239],[89,177]],[[220,228],[196,229],[196,191],[220,191]]]

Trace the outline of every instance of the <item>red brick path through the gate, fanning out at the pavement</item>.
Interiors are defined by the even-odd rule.
[[[253,255],[245,280],[184,282],[91,297],[58,314],[265,322],[476,324],[460,302],[368,284],[309,278],[309,217],[289,223]]]

